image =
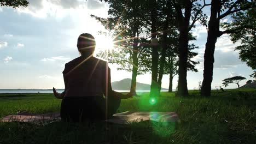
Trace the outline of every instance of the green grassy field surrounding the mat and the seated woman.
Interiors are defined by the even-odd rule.
[[[256,89],[213,91],[201,98],[174,97],[162,92],[156,103],[148,93],[122,100],[118,112],[176,111],[179,122],[146,121],[129,125],[50,122],[0,123],[0,143],[256,143]],[[27,111],[56,112],[60,100],[53,94],[0,94],[0,117]]]

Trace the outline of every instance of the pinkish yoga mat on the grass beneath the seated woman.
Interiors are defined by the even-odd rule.
[[[61,120],[60,113],[44,113],[36,115],[27,112],[21,112],[18,115],[8,115],[1,119],[1,122],[34,122],[43,123],[46,121]],[[142,121],[156,121],[156,122],[175,122],[178,120],[178,115],[175,112],[121,112],[113,115],[112,118],[107,119],[106,122],[129,124],[138,123]]]

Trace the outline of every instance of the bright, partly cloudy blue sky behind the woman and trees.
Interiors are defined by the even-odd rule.
[[[62,71],[65,63],[79,57],[76,43],[79,34],[91,33],[96,39],[96,51],[106,49],[110,39],[98,34],[104,27],[90,15],[107,17],[108,4],[97,1],[69,0],[31,0],[27,8],[0,7],[0,89],[48,89],[65,88]],[[205,8],[206,14],[210,8]],[[228,21],[224,19],[223,21]],[[199,46],[199,53],[193,59],[199,61],[199,72],[188,71],[188,88],[198,88],[203,80],[203,53],[207,39],[207,29],[196,22],[192,30],[197,40],[191,41]],[[231,76],[249,75],[253,70],[241,62],[238,43],[233,44],[229,35],[218,38],[213,70],[212,88],[222,86],[222,80]],[[117,65],[109,64],[113,81],[131,78],[131,73],[117,70]],[[168,75],[162,79],[162,87],[168,88]],[[244,85],[247,80],[241,81]],[[137,81],[151,82],[149,73],[138,75]],[[178,76],[173,79],[176,88]],[[227,88],[236,88],[230,84]]]

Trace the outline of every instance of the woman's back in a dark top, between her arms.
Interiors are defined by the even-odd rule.
[[[101,59],[78,57],[66,63],[63,70],[65,97],[102,96],[106,88],[107,64]]]

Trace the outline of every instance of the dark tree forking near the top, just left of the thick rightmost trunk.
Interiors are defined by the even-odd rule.
[[[207,5],[203,1],[203,5],[197,1],[184,0],[172,1],[176,10],[176,18],[179,28],[179,68],[178,68],[178,92],[177,96],[187,96],[187,68],[188,68],[188,49],[189,49],[189,31],[194,27],[196,21],[200,21],[206,25],[206,14],[202,13],[202,9]]]

